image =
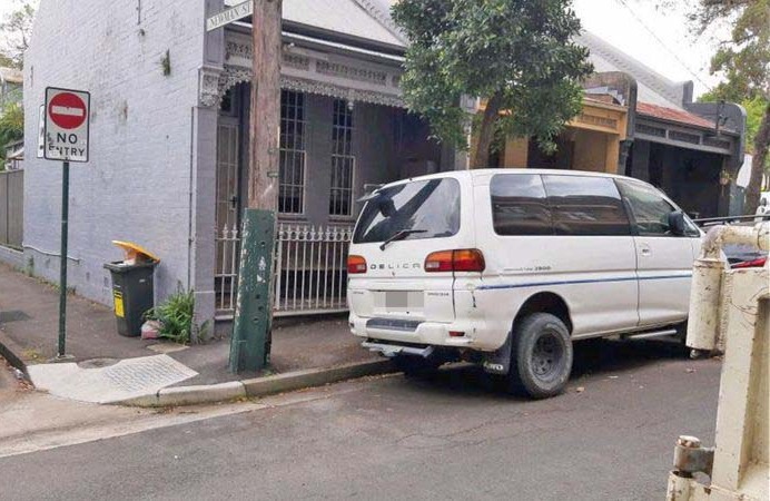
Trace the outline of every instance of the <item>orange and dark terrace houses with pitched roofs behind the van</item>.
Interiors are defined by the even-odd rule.
[[[674,82],[601,38],[584,32],[596,75],[583,112],[542,155],[511,138],[500,166],[603,170],[649,181],[695,217],[727,216],[738,195],[746,112],[734,104],[693,102],[692,82]]]

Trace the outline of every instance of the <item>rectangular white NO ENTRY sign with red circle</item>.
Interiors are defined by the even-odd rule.
[[[46,159],[88,161],[90,104],[89,92],[46,88]]]

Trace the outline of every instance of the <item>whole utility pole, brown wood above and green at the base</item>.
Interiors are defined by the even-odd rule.
[[[230,371],[259,371],[269,361],[280,129],[283,0],[254,0],[248,205],[244,210]]]

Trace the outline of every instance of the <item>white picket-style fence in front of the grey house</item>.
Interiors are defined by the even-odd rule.
[[[347,250],[352,226],[279,224],[275,243],[276,315],[312,315],[347,310]],[[231,317],[238,282],[240,235],[236,227],[217,234],[215,274],[217,317]]]

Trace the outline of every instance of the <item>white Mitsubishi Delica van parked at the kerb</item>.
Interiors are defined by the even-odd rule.
[[[701,235],[623,176],[480,169],[393,183],[356,224],[351,330],[407,372],[470,360],[512,391],[551,396],[573,340],[681,332]]]

